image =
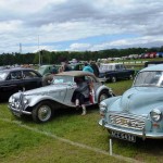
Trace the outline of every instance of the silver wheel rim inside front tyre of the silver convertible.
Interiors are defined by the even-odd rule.
[[[51,108],[49,105],[41,105],[38,110],[38,118],[46,122],[51,117]]]

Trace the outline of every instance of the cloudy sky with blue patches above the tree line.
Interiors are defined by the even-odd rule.
[[[163,0],[0,0],[0,54],[163,46]]]

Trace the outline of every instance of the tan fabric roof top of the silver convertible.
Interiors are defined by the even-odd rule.
[[[65,75],[65,76],[85,76],[85,75],[89,75],[89,76],[93,76],[95,75],[92,73],[89,72],[83,72],[83,71],[70,71],[70,72],[62,72],[55,75]]]

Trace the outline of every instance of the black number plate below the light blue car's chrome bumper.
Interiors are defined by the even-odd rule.
[[[130,134],[125,134],[125,133],[120,133],[120,131],[111,131],[111,136],[114,138],[136,142],[136,136],[130,135]]]

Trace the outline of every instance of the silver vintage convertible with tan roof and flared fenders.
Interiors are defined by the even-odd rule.
[[[71,71],[57,74],[49,86],[24,92],[16,92],[9,99],[9,108],[16,116],[32,115],[35,122],[47,122],[52,117],[53,111],[61,108],[75,108],[72,97],[77,88],[76,77],[84,77],[91,82],[95,89],[95,103],[86,99],[86,106],[100,103],[103,99],[112,97],[112,90],[102,85],[91,73]]]

